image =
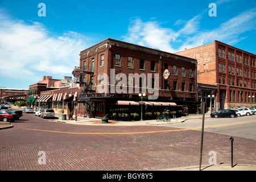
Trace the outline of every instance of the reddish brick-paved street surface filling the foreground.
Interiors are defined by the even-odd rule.
[[[199,165],[201,131],[71,125],[33,114],[24,114],[22,121],[12,124],[13,128],[0,130],[0,170],[159,170]],[[146,131],[163,132],[139,133]],[[208,164],[210,151],[217,152],[217,164],[230,163],[229,137],[205,132],[203,164]],[[234,163],[256,164],[255,144],[255,140],[236,137]],[[46,152],[46,164],[38,163],[39,151]]]

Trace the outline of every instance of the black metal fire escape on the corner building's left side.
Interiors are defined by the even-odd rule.
[[[90,97],[95,96],[96,90],[93,90],[93,68],[92,67],[75,67],[72,72],[77,78],[76,84],[80,84],[79,94],[77,94],[77,101],[84,104],[85,115],[88,117],[95,117],[94,108]]]

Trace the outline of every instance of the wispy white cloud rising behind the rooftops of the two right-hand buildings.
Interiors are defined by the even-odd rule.
[[[217,2],[224,3],[228,1],[220,0]],[[213,43],[214,40],[236,44],[246,38],[242,35],[243,33],[255,30],[256,8],[243,11],[212,30],[200,27],[201,18],[206,14],[208,15],[208,11],[202,11],[188,21],[177,20],[175,25],[184,24],[184,26],[176,31],[162,27],[161,23],[155,20],[143,22],[136,18],[131,21],[128,32],[123,38],[130,43],[174,53],[182,51],[184,48]]]

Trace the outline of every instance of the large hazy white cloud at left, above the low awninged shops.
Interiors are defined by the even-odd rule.
[[[71,74],[86,38],[73,31],[53,36],[42,23],[0,15],[0,75],[17,79]],[[39,73],[38,73],[39,72]]]

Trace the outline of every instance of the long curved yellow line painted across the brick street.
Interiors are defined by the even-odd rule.
[[[246,122],[240,122],[240,123],[232,123],[232,124],[226,124],[226,125],[218,125],[218,126],[208,126],[204,127],[205,129],[210,127],[221,127],[221,126],[230,126],[230,125],[239,125],[243,123],[251,123],[256,121],[246,121]],[[201,127],[195,128],[195,129],[178,129],[178,130],[158,130],[158,131],[140,131],[140,132],[127,132],[127,133],[74,133],[74,132],[66,132],[66,131],[51,131],[51,130],[39,130],[39,129],[25,129],[25,130],[34,130],[34,131],[47,131],[52,133],[66,133],[66,134],[85,134],[85,135],[98,135],[98,134],[145,134],[145,133],[163,133],[163,132],[171,132],[171,131],[186,131],[186,130],[199,130]]]

